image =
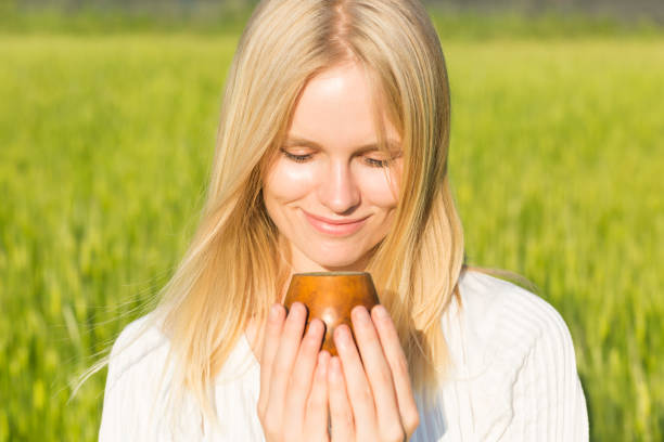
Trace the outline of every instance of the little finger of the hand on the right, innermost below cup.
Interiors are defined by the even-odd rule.
[[[328,386],[332,442],[355,440],[353,410],[348,403],[346,382],[344,381],[339,356],[330,359],[328,367]]]

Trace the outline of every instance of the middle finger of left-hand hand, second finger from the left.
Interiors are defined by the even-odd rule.
[[[270,417],[276,420],[272,422],[274,425],[281,422],[283,416],[286,387],[299,349],[306,314],[307,310],[302,302],[293,302],[272,362],[267,407],[273,411]]]

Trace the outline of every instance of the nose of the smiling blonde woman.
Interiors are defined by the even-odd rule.
[[[321,204],[339,214],[346,214],[360,203],[360,192],[355,183],[350,165],[335,161],[330,165],[328,172],[320,177],[318,196]]]

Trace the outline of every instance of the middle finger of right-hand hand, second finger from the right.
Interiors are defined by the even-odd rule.
[[[392,369],[385,360],[381,340],[369,312],[363,306],[357,306],[350,316],[365,373],[371,387],[379,431],[388,440],[403,437],[404,427],[394,391]],[[397,341],[397,344],[400,343]]]

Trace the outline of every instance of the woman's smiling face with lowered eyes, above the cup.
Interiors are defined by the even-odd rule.
[[[263,187],[295,272],[363,270],[387,234],[403,158],[397,131],[383,120],[390,155],[374,146],[370,90],[355,64],[330,68],[305,87]]]

